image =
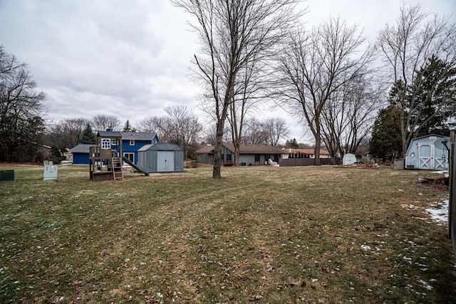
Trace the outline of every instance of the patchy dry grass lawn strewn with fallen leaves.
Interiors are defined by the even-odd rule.
[[[44,182],[42,167],[14,169],[0,183],[2,303],[455,303],[447,229],[423,219],[447,192],[416,172],[90,182],[87,167],[59,167]]]

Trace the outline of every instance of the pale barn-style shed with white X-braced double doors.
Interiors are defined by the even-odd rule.
[[[447,137],[432,134],[414,138],[405,154],[405,167],[408,169],[447,170],[448,151],[435,146],[435,142],[442,138]]]

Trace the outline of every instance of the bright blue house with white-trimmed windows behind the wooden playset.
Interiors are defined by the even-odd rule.
[[[155,133],[148,132],[115,132],[99,131],[97,137],[101,137],[100,145],[103,150],[115,150],[120,152],[122,143],[122,155],[134,164],[138,163],[138,150],[144,145],[156,144],[158,137]],[[73,154],[73,164],[89,164],[89,147],[94,145],[77,145],[70,152]],[[76,161],[75,161],[76,157]]]

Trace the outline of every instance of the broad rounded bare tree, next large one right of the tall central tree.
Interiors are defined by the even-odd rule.
[[[358,53],[365,38],[357,26],[338,19],[294,33],[279,61],[281,103],[302,115],[315,138],[315,164],[320,164],[324,107],[341,87],[366,73],[371,48]]]

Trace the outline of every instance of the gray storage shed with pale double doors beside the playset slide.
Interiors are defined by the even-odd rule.
[[[138,167],[149,173],[183,172],[184,151],[169,142],[144,145],[138,150]]]

